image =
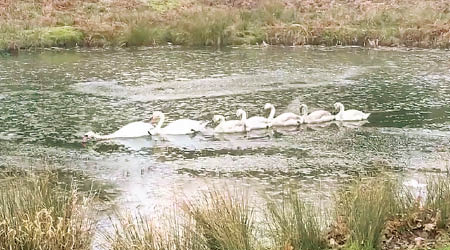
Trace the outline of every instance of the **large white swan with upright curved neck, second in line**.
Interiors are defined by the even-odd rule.
[[[200,121],[194,121],[191,119],[179,119],[176,121],[173,121],[164,128],[161,128],[161,126],[164,123],[164,113],[160,111],[156,111],[153,113],[152,120],[156,120],[159,118],[159,122],[156,125],[155,128],[148,130],[148,133],[150,135],[187,135],[187,134],[193,134],[196,132],[201,132],[206,129],[206,125],[208,122],[200,122]]]

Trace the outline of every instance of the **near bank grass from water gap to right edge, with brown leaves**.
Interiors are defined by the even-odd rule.
[[[114,249],[448,249],[450,181],[432,179],[425,200],[385,177],[360,180],[324,213],[290,192],[255,211],[245,194],[208,191],[169,225],[125,217],[108,238]],[[181,218],[181,219],[180,219]],[[258,223],[256,223],[258,221]],[[447,248],[446,248],[447,246]]]

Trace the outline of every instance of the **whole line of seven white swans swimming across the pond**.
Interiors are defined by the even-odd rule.
[[[345,110],[344,105],[340,102],[334,104],[335,109],[339,110],[336,115],[332,115],[325,110],[316,110],[308,113],[308,107],[306,104],[300,105],[301,115],[295,113],[282,113],[275,116],[275,106],[266,103],[264,110],[270,109],[269,116],[252,116],[247,118],[247,113],[243,109],[236,111],[238,120],[225,120],[223,115],[214,115],[213,121],[218,123],[214,127],[214,133],[240,133],[248,132],[256,129],[267,129],[270,127],[283,127],[283,126],[299,126],[301,124],[309,123],[324,123],[333,120],[337,121],[361,121],[367,120],[370,113],[364,113],[359,110]],[[152,122],[158,121],[156,126],[152,125]],[[114,138],[132,138],[141,137],[147,135],[186,135],[195,134],[198,132],[204,132],[207,130],[209,122],[196,121],[191,119],[179,119],[170,122],[165,127],[164,125],[165,115],[160,111],[156,111],[152,115],[151,122],[132,122],[117,130],[114,133],[108,135],[100,135],[92,131],[87,132],[83,136],[83,142],[88,139],[108,140]]]

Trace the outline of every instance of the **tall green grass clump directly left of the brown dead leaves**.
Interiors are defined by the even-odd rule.
[[[379,249],[387,220],[409,207],[399,191],[396,182],[377,177],[338,196],[336,212],[350,232],[348,248]]]

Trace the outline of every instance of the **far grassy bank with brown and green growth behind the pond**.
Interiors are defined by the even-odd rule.
[[[446,1],[5,0],[0,48],[230,44],[450,47]]]

